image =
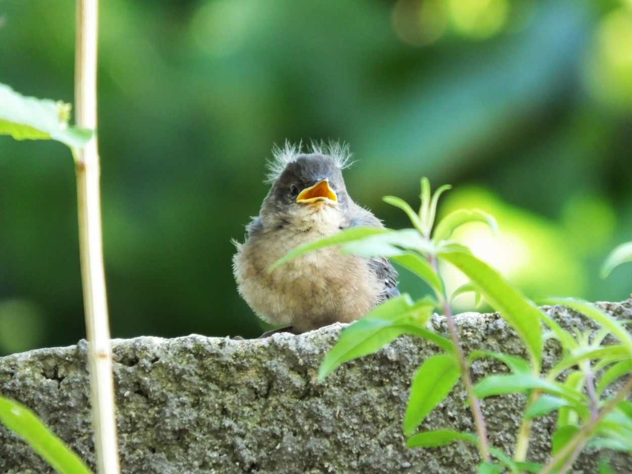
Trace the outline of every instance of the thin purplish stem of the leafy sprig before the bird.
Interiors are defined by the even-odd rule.
[[[435,255],[430,255],[430,264],[435,270],[435,273],[439,273],[439,269],[437,267],[437,257]],[[482,461],[489,461],[489,447],[487,441],[487,427],[485,427],[485,418],[483,417],[483,411],[480,408],[480,400],[474,393],[474,384],[472,383],[470,377],[470,370],[465,360],[465,355],[463,354],[463,348],[461,347],[461,340],[459,339],[459,333],[456,330],[456,324],[454,324],[454,317],[452,315],[452,308],[450,307],[447,295],[444,291],[443,299],[443,312],[446,315],[447,327],[450,332],[450,337],[452,342],[454,343],[454,347],[456,348],[456,357],[459,363],[459,370],[461,370],[461,377],[463,377],[463,384],[465,385],[465,390],[468,394],[468,399],[470,399],[472,416],[474,418],[474,423],[476,425],[476,430],[478,434],[478,451],[480,453],[480,458]]]

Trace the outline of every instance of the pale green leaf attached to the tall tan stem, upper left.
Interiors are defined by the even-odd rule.
[[[16,140],[57,140],[81,148],[92,138],[92,130],[68,125],[70,104],[18,94],[0,83],[0,135]]]

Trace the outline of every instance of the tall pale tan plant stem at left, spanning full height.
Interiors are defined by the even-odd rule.
[[[97,128],[97,0],[76,2],[75,106],[82,128]],[[90,401],[97,471],[119,472],[112,382],[112,349],[103,269],[99,154],[96,134],[73,150],[77,179],[79,245],[90,361]]]

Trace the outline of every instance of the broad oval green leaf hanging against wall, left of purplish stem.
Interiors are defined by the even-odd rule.
[[[404,413],[404,434],[410,436],[435,406],[452,391],[461,376],[454,356],[437,354],[418,368]]]

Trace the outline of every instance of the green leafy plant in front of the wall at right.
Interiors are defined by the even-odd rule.
[[[374,353],[402,334],[411,334],[434,343],[440,352],[423,361],[411,384],[410,398],[404,414],[403,431],[407,446],[444,446],[465,441],[478,447],[482,462],[480,473],[552,472],[568,470],[581,449],[609,447],[632,453],[632,404],[623,398],[632,388],[632,379],[623,389],[609,398],[609,387],[628,375],[632,368],[632,336],[624,322],[614,319],[600,308],[580,300],[548,300],[550,304],[566,305],[602,325],[596,334],[576,334],[566,331],[533,301],[509,283],[497,270],[475,257],[469,248],[451,240],[454,231],[471,222],[487,224],[497,231],[494,217],[481,210],[456,210],[435,222],[439,196],[450,186],[441,186],[435,193],[422,178],[421,206],[415,212],[400,198],[384,200],[403,210],[411,229],[351,228],[327,238],[295,248],[272,265],[274,271],[291,258],[326,246],[339,246],[342,253],[363,257],[387,257],[410,270],[430,286],[433,296],[413,301],[409,295],[386,300],[362,319],[344,329],[337,343],[325,356],[319,379],[354,358]],[[604,273],[614,266],[632,260],[632,247],[617,248],[604,265]],[[475,350],[463,354],[456,325],[452,317],[451,300],[446,295],[437,261],[453,265],[469,279],[454,294],[474,291],[477,300],[484,298],[518,333],[525,344],[528,360],[520,356]],[[437,334],[426,325],[434,311],[446,315],[449,337]],[[544,331],[544,328],[547,331]],[[602,344],[611,334],[617,344]],[[547,337],[561,344],[561,358],[547,374],[542,374],[542,348]],[[508,374],[487,375],[473,384],[470,365],[481,357],[495,358],[507,368]],[[597,375],[599,374],[599,376]],[[563,375],[563,377],[562,377]],[[477,425],[477,433],[465,433],[450,427],[415,433],[430,411],[463,380]],[[523,393],[527,404],[518,432],[513,457],[489,445],[485,421],[478,400],[488,396]],[[526,461],[530,428],[533,419],[557,412],[557,429],[552,435],[552,459],[548,465]]]

